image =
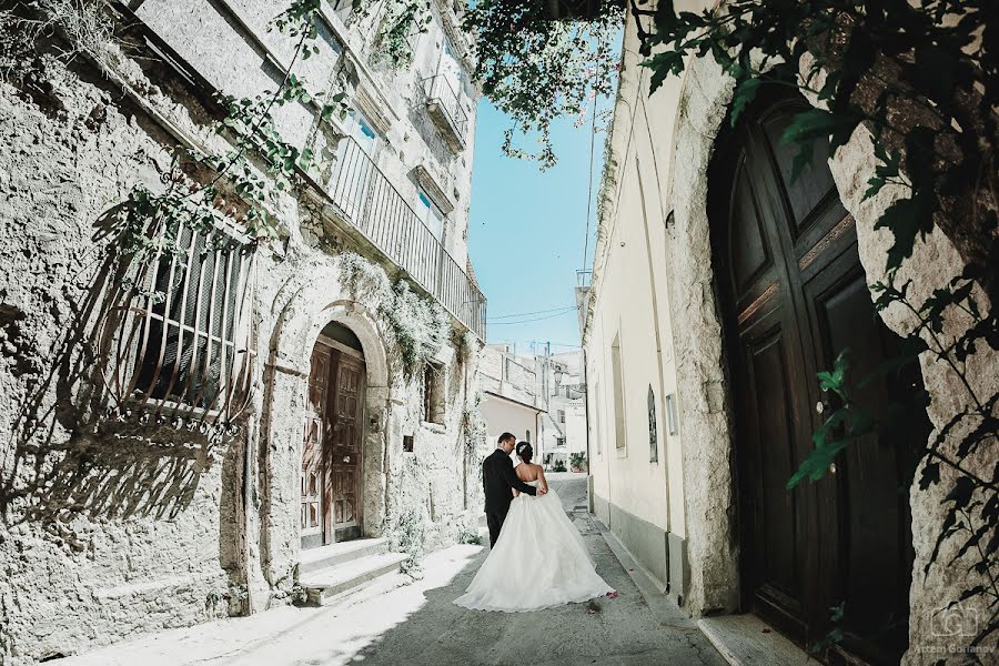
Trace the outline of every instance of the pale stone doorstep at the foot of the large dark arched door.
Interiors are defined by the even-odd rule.
[[[703,617],[697,626],[731,666],[801,666],[811,657],[751,613]]]

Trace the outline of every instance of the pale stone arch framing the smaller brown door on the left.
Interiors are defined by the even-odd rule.
[[[309,265],[279,290],[274,329],[264,367],[261,422],[261,564],[271,586],[287,587],[300,551],[299,474],[303,413],[312,349],[331,322],[351,329],[365,359],[362,435],[363,531],[381,533],[387,505],[389,433],[394,373],[376,304],[346,290],[335,265]]]

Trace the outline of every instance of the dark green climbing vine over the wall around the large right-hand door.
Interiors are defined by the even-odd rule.
[[[886,188],[886,194],[895,196],[876,223],[894,236],[887,280],[871,287],[876,307],[902,309],[917,322],[907,341],[911,355],[897,362],[911,361],[917,353],[931,355],[957,379],[965,392],[958,402],[968,405],[939,427],[917,456],[922,460],[920,487],[944,483],[948,488],[944,529],[927,571],[935,563],[950,566],[977,554],[971,556],[976,575],[955,603],[980,598],[995,608],[999,466],[981,461],[988,463],[989,453],[995,458],[999,443],[999,395],[982,395],[968,364],[986,346],[999,350],[995,3],[734,0],[699,13],[678,13],[669,0],[660,0],[655,9],[646,4],[632,0],[629,9],[639,20],[643,50],[652,56],[645,64],[653,72],[653,90],[668,75],[682,73],[690,57],[710,56],[735,80],[733,124],[765,83],[800,90],[817,102],[799,113],[784,135],[785,142],[800,147],[793,178],[810,162],[814,140],[828,139],[835,153],[858,129],[869,137],[877,169],[865,199]],[[967,270],[918,303],[899,269],[917,240],[935,228],[950,239]],[[846,446],[890,426],[854,400],[847,376],[842,354],[833,370],[819,374],[820,386],[836,394],[840,406],[815,434],[815,450],[789,487],[820,478]],[[858,384],[872,379],[861,377]],[[938,563],[948,542],[957,555]],[[972,645],[999,629],[999,613],[986,619]]]

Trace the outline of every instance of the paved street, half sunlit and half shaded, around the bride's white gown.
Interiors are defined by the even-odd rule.
[[[455,546],[426,559],[426,576],[398,586],[402,576],[325,608],[276,608],[113,646],[62,662],[67,666],[426,666],[532,664],[575,666],[663,664],[724,666],[724,660],[678,609],[650,606],[585,513],[585,476],[552,481],[593,554],[599,574],[619,596],[536,613],[481,613],[452,601],[467,587],[486,549]],[[512,574],[513,575],[513,574]]]

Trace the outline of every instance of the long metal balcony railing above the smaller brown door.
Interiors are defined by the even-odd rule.
[[[485,340],[485,296],[352,138],[340,140],[326,193],[346,222],[404,269],[455,319]]]

